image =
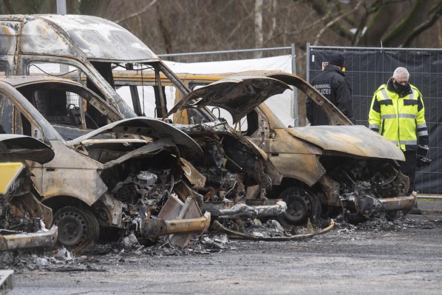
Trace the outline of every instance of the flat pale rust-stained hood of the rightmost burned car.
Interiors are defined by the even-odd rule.
[[[296,127],[287,128],[287,132],[325,151],[405,161],[403,152],[393,143],[361,125]]]

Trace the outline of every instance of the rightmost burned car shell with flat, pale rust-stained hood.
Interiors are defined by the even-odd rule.
[[[256,74],[246,73],[237,79],[250,79]],[[303,90],[325,109],[331,125],[341,125],[286,128],[265,104],[259,103],[247,114],[248,126],[255,128],[247,130],[249,140],[266,151],[269,161],[283,175],[282,179],[272,179],[274,193],[288,207],[282,222],[296,224],[307,217],[315,218],[321,207],[329,212],[343,207],[347,216],[368,217],[378,212],[394,216],[414,205],[415,196],[405,196],[408,178],[399,172],[396,162],[404,160],[399,148],[364,126],[349,126],[351,123],[301,78],[280,72],[261,74]],[[199,95],[204,88],[210,94],[211,87],[198,89]],[[200,101],[205,99],[203,96]],[[220,106],[223,101],[214,100],[211,105]],[[241,98],[237,103],[240,108]],[[202,102],[197,104],[203,106]]]

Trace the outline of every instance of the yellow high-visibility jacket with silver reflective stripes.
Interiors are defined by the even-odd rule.
[[[410,84],[410,90],[398,94],[391,79],[374,93],[368,113],[371,130],[378,132],[402,150],[428,146],[428,130],[420,91]]]

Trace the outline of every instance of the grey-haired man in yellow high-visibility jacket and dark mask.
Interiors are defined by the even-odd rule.
[[[408,82],[410,73],[404,67],[394,70],[387,84],[374,93],[368,114],[369,128],[378,132],[404,152],[401,172],[410,179],[408,194],[414,193],[417,154],[426,156],[428,130],[420,91]],[[417,205],[410,212],[421,214]]]

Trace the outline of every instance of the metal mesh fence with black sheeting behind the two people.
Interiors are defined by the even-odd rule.
[[[430,166],[417,168],[416,189],[423,194],[442,194],[442,49],[322,47],[307,44],[307,81],[322,71],[330,54],[345,56],[345,75],[352,86],[353,111],[357,124],[368,126],[373,93],[386,84],[398,66],[410,72],[410,83],[423,96],[425,119],[430,135]],[[439,157],[441,154],[441,158]],[[441,163],[442,164],[442,163]]]

